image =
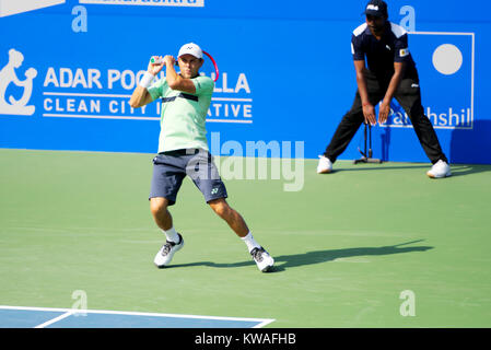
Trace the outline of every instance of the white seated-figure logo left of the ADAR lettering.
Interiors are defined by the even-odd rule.
[[[15,74],[15,69],[22,66],[24,56],[15,50],[9,50],[9,62],[0,70],[0,114],[12,114],[32,116],[35,106],[27,106],[27,103],[33,93],[33,80],[37,75],[37,71],[34,68],[30,68],[25,72],[25,80],[20,80]],[[20,100],[15,100],[13,96],[9,96],[7,101],[7,88],[13,83],[19,88],[24,88],[24,92]]]

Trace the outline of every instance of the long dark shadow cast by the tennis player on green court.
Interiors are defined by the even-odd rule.
[[[359,248],[347,248],[347,249],[326,249],[326,250],[315,250],[308,252],[304,254],[292,254],[292,255],[280,255],[274,256],[274,269],[272,272],[284,271],[289,268],[307,266],[314,264],[322,264],[327,261],[334,261],[339,258],[350,258],[356,256],[376,256],[376,255],[393,255],[393,254],[402,254],[402,253],[412,253],[412,252],[426,252],[429,249],[433,249],[434,247],[430,246],[418,246],[418,247],[400,247],[402,245],[413,244],[422,242],[423,240],[412,241],[401,244],[396,244],[391,246],[382,246],[382,247],[359,247]],[[200,261],[200,262],[191,262],[191,264],[183,264],[183,265],[171,265],[166,268],[178,268],[178,267],[192,267],[192,266],[209,266],[215,268],[232,268],[232,267],[244,267],[244,266],[253,266],[255,262],[253,260],[249,261],[241,261],[241,262],[231,262],[231,264],[215,264],[211,261]]]

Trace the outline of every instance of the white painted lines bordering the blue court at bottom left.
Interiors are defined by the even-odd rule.
[[[51,323],[58,322],[75,313],[84,314],[109,314],[109,315],[130,315],[130,316],[155,316],[155,317],[173,317],[173,318],[191,318],[191,319],[215,319],[215,320],[242,320],[242,322],[259,322],[254,328],[260,328],[274,322],[273,318],[247,318],[247,317],[225,317],[225,316],[203,316],[203,315],[185,315],[185,314],[160,314],[160,313],[140,313],[140,312],[125,312],[125,311],[107,311],[107,310],[74,310],[74,308],[57,308],[57,307],[33,307],[33,306],[9,306],[0,305],[0,310],[22,310],[22,311],[47,311],[47,312],[65,312],[51,320]],[[60,318],[61,317],[61,318]],[[47,323],[45,325],[46,327]],[[42,326],[39,325],[39,326]],[[39,327],[36,326],[36,327]]]

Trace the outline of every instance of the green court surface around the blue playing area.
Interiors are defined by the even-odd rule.
[[[83,291],[89,310],[267,327],[491,326],[490,165],[430,179],[430,164],[339,161],[317,175],[305,160],[299,191],[225,179],[276,259],[261,273],[189,179],[171,210],[186,245],[154,267],[152,158],[0,150],[0,305],[70,308]]]

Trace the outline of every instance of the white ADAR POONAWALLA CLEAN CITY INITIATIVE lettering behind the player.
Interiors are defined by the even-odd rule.
[[[43,78],[43,117],[160,120],[162,104],[132,108],[129,98],[145,71],[48,67]],[[215,73],[202,72],[215,78]],[[165,79],[162,71],[156,79]],[[253,98],[245,72],[222,72],[208,122],[253,124]]]

